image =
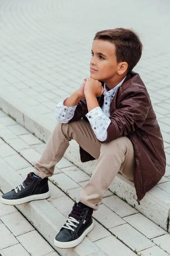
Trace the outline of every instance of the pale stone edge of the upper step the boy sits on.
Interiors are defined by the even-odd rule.
[[[5,113],[10,113],[11,116],[14,116],[17,122],[23,125],[28,131],[31,133],[34,132],[37,138],[47,142],[56,122],[50,119],[47,122],[47,119],[44,120],[42,116],[30,112],[26,105],[21,105],[20,102],[11,99],[10,95],[7,94],[0,95],[0,107],[3,108]],[[90,175],[93,172],[96,160],[82,163],[79,157],[79,145],[74,140],[70,142],[70,146],[66,150],[64,157],[85,173]],[[123,175],[118,174],[109,189],[170,233],[170,166],[167,166],[165,176],[159,182],[160,184],[157,184],[147,192],[142,201],[140,201],[140,205],[136,201],[134,183],[127,180]]]

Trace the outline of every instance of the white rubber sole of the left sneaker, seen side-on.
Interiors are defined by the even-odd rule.
[[[7,204],[7,205],[18,205],[18,204],[25,204],[27,202],[30,201],[34,201],[34,200],[42,200],[42,199],[46,199],[50,197],[50,191],[44,193],[44,194],[38,194],[38,195],[30,195],[27,196],[25,198],[20,198],[20,199],[5,199],[1,197],[1,202],[3,204]]]

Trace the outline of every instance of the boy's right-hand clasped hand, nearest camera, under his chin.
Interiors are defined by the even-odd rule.
[[[102,87],[102,83],[98,80],[92,79],[91,77],[85,78],[85,87],[84,87],[84,94],[85,96],[87,94],[92,94],[96,97],[101,96],[105,89]]]

